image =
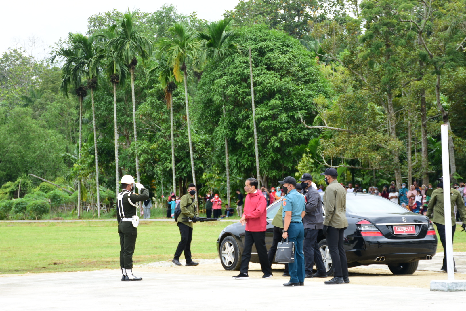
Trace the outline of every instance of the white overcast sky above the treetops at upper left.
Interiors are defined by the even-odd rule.
[[[53,45],[68,33],[87,30],[87,20],[92,14],[111,11],[116,8],[124,11],[138,8],[141,12],[154,12],[163,4],[173,4],[179,13],[198,12],[198,17],[207,21],[222,18],[225,10],[233,9],[239,0],[133,0],[133,1],[5,1],[2,2],[2,24],[7,31],[0,32],[0,55],[8,48],[25,48],[41,59],[44,49]],[[34,40],[33,40],[34,38]],[[35,41],[35,51],[31,42]],[[34,55],[35,53],[35,55]]]

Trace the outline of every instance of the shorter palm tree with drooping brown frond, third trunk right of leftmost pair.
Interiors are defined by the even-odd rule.
[[[171,129],[171,173],[173,175],[173,192],[176,194],[176,174],[175,174],[175,140],[173,138],[173,97],[172,93],[178,88],[173,76],[173,68],[167,62],[165,54],[160,55],[157,59],[157,66],[151,69],[151,72],[159,73],[158,80],[162,84],[165,92],[165,101],[170,105],[170,129]]]

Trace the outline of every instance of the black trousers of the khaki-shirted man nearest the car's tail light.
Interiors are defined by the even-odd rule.
[[[348,276],[348,261],[346,252],[343,248],[344,232],[346,228],[327,228],[327,245],[329,246],[330,256],[335,274],[333,276]]]

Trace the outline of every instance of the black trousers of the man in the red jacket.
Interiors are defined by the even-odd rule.
[[[246,231],[244,235],[244,249],[243,256],[241,256],[240,272],[247,274],[249,268],[249,261],[251,260],[251,251],[253,244],[257,249],[257,256],[259,256],[260,268],[264,274],[272,274],[270,263],[267,257],[267,247],[265,246],[265,231]]]

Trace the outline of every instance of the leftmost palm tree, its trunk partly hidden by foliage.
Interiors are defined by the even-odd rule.
[[[69,33],[69,39],[72,41],[73,34]],[[81,159],[81,146],[82,146],[82,101],[87,95],[86,86],[82,83],[84,76],[84,67],[79,62],[82,58],[82,49],[70,47],[59,48],[55,54],[49,58],[49,62],[53,64],[56,57],[64,60],[62,67],[62,83],[60,84],[60,92],[64,97],[68,97],[69,88],[75,90],[75,95],[79,101],[79,149],[78,160]],[[78,218],[81,217],[81,180],[78,180]]]

